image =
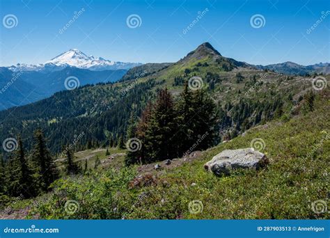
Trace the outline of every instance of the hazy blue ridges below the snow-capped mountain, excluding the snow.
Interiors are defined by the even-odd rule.
[[[77,78],[79,86],[118,81],[127,70],[92,71],[75,67],[59,70],[17,71],[0,67],[0,111],[42,100],[65,90],[65,79]]]

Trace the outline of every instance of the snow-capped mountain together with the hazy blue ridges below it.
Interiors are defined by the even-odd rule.
[[[121,79],[127,70],[139,65],[142,64],[109,61],[88,56],[79,49],[70,49],[45,63],[0,67],[0,90],[6,88],[1,93],[0,110],[36,102],[65,90],[68,77],[77,78],[79,86],[114,82]],[[15,74],[19,76],[12,85],[10,81],[16,78]]]

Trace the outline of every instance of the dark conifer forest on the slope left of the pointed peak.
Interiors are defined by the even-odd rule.
[[[131,111],[141,115],[148,100],[155,97],[150,89],[161,84],[163,82],[155,80],[135,84],[125,95],[122,92],[129,83],[116,87],[112,84],[84,86],[55,93],[45,100],[15,110],[0,111],[0,141],[10,137],[10,133],[21,133],[26,149],[31,150],[33,132],[40,128],[52,153],[61,152],[62,145],[71,143],[74,135],[82,132],[84,136],[75,143],[74,151],[95,148],[97,143],[107,143],[111,136],[125,134]]]

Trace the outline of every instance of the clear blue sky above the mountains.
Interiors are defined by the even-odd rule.
[[[12,28],[3,23],[9,14],[17,17]],[[129,28],[133,14],[141,26]],[[253,27],[257,14],[265,21]],[[330,61],[326,0],[1,0],[0,17],[1,66],[43,63],[71,48],[113,61],[175,62],[205,41],[223,56],[253,64]]]

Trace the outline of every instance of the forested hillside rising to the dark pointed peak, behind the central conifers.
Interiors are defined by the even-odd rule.
[[[77,143],[77,150],[88,143],[107,145],[110,139],[125,136],[131,112],[141,116],[157,88],[168,88],[176,100],[184,82],[212,97],[219,113],[220,137],[225,139],[282,116],[312,88],[312,79],[256,70],[221,56],[205,43],[177,63],[129,70],[123,82],[65,90],[40,102],[1,111],[1,140],[21,134],[31,148],[33,131],[41,128],[52,152],[60,152],[81,132],[86,136]]]

